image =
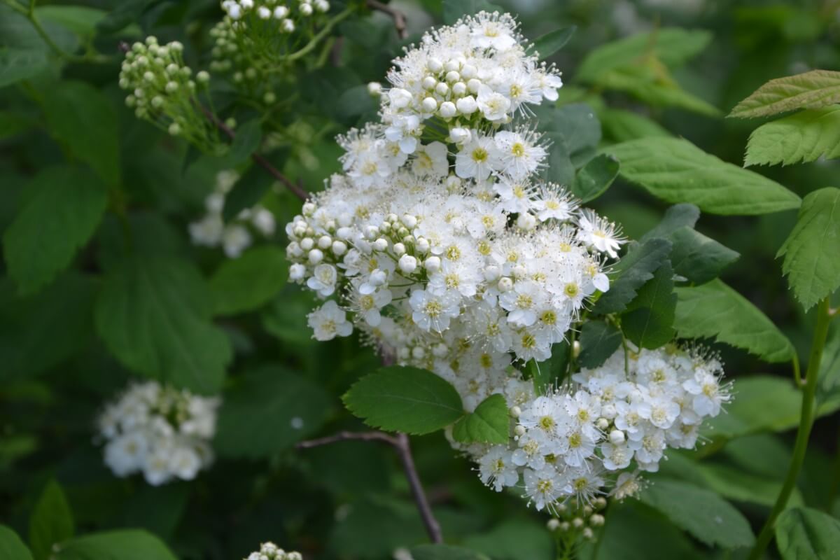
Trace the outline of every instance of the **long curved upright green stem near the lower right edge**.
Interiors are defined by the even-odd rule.
[[[764,554],[764,549],[773,538],[773,528],[776,518],[785,509],[790,493],[796,485],[796,479],[805,463],[805,452],[808,447],[808,438],[811,436],[811,427],[814,426],[814,395],[816,394],[816,379],[820,373],[820,361],[822,360],[822,349],[826,345],[828,336],[828,323],[831,321],[829,315],[828,298],[820,301],[816,310],[816,327],[814,328],[814,339],[811,343],[811,357],[808,359],[808,369],[805,372],[805,390],[802,393],[802,410],[799,421],[799,430],[796,432],[796,442],[793,448],[793,457],[790,458],[785,484],[782,486],[779,497],[770,511],[770,516],[764,522],[755,542],[753,551],[749,554],[749,560],[759,560]]]

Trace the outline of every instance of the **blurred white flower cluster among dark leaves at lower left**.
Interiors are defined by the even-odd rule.
[[[146,482],[192,480],[213,462],[219,400],[155,381],[132,385],[99,417],[108,443],[105,464],[118,477],[142,472]]]

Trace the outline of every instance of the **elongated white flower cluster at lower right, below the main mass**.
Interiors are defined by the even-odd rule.
[[[730,398],[721,378],[720,362],[696,351],[619,349],[574,374],[572,386],[513,406],[508,445],[466,451],[496,491],[522,477],[537,510],[557,515],[570,497],[588,504],[610,486],[621,499],[638,489],[636,474],[622,472],[633,463],[655,472],[667,447],[695,447],[702,421]],[[611,482],[611,474],[620,476]]]

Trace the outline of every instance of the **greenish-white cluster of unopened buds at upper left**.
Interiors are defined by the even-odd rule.
[[[160,45],[153,36],[145,43],[134,43],[125,54],[119,86],[129,91],[125,103],[134,108],[138,118],[202,149],[214,149],[218,144],[216,128],[196,110],[197,88],[206,88],[210,75],[200,71],[193,80],[183,50],[178,41]]]

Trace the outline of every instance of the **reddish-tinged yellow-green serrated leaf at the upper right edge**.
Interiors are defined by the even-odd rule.
[[[812,70],[770,80],[738,103],[729,117],[766,117],[840,103],[840,72]]]

